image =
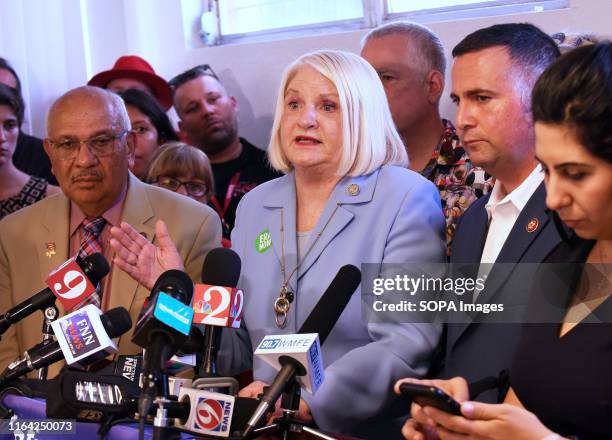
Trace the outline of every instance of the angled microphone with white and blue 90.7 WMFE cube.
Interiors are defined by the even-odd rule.
[[[315,330],[318,329],[321,344],[325,342],[327,336],[336,324],[336,321],[338,321],[344,308],[351,299],[353,292],[355,292],[355,290],[359,286],[359,283],[361,283],[361,271],[350,264],[342,266],[334,277],[334,279],[332,280],[329,287],[321,296],[321,299],[319,299],[319,302],[317,303],[315,308],[312,310],[312,312],[310,312],[310,315],[308,316],[308,318],[306,318],[306,321],[304,321],[304,323],[300,327],[300,330],[298,331],[298,333],[302,335],[299,337],[299,339],[302,340],[301,343],[304,344],[304,346],[307,348],[306,353],[303,357],[301,357],[301,359],[302,361],[304,361],[305,358],[307,359],[307,362],[305,363],[306,366],[314,366],[314,370],[310,371],[310,376],[313,377],[312,381],[310,382],[310,387],[313,390],[316,390],[316,388],[318,388],[318,385],[320,385],[323,380],[323,369],[321,355],[319,353],[319,344],[316,341],[316,337],[314,337],[313,339],[314,335],[312,335],[312,333],[314,333]],[[282,337],[284,337],[285,339],[290,339],[292,336],[295,339],[295,335],[282,335]],[[277,344],[271,344],[270,339],[266,337],[257,347],[255,354],[261,355],[266,352],[269,352],[270,350],[274,351],[275,349],[277,349],[281,345],[280,343],[282,339],[279,336],[276,336],[274,338],[277,339]],[[292,344],[289,343],[285,344],[284,346],[287,345]],[[269,410],[274,408],[276,401],[285,390],[287,384],[292,379],[294,379],[295,376],[304,376],[308,373],[308,370],[304,366],[304,363],[295,359],[293,356],[287,355],[294,354],[295,350],[294,352],[291,352],[291,350],[286,351],[284,355],[278,353],[278,350],[276,351],[277,353],[274,353],[274,362],[271,362],[267,356],[264,356],[263,359],[266,362],[271,363],[273,366],[280,365],[280,371],[274,378],[272,384],[268,387],[268,389],[262,396],[261,401],[257,406],[257,409],[247,422],[246,429],[243,433],[243,438],[246,438],[248,435],[250,435],[255,429],[255,426],[257,426],[257,424],[261,420],[261,418]],[[321,365],[321,367],[319,371],[317,371],[317,365],[319,364]]]

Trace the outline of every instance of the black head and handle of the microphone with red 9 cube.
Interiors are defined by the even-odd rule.
[[[77,264],[94,286],[110,271],[106,258],[100,253],[88,255],[83,259],[77,258]],[[56,299],[53,291],[47,287],[16,305],[0,316],[0,335],[4,334],[12,324],[27,318],[35,311],[52,306]]]

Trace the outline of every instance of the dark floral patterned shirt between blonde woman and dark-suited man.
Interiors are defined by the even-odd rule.
[[[453,124],[446,119],[442,122],[444,134],[421,175],[431,180],[440,192],[450,255],[457,220],[474,200],[491,191],[494,181],[482,168],[472,164]]]

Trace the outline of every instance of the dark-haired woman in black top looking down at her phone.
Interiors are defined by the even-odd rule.
[[[546,204],[571,230],[559,222],[566,240],[545,261],[570,269],[562,287],[535,290],[530,309],[541,313],[553,299],[559,323],[523,327],[504,404],[463,402],[464,417],[413,404],[406,438],[612,436],[612,43],[552,64],[532,107]],[[467,398],[462,378],[429,383]]]

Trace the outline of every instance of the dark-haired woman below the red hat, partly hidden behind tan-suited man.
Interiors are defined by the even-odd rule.
[[[129,89],[119,96],[125,102],[132,131],[136,134],[135,160],[130,171],[144,181],[159,146],[178,141],[179,138],[170,119],[151,95],[142,90]]]

